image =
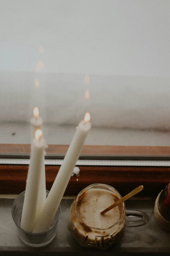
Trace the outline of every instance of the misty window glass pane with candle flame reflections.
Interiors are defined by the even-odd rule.
[[[170,145],[169,0],[1,0],[0,143]]]

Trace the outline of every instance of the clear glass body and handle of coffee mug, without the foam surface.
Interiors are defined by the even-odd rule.
[[[148,215],[144,212],[126,211],[125,203],[123,202],[119,221],[113,222],[113,225],[106,229],[87,226],[78,214],[78,200],[85,192],[94,188],[111,191],[118,199],[121,198],[116,189],[105,184],[92,184],[78,194],[70,207],[67,227],[81,246],[107,249],[121,240],[127,226],[138,227],[145,225],[149,221]],[[129,216],[129,220],[127,220],[126,216]]]

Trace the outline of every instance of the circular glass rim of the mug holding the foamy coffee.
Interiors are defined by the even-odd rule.
[[[115,188],[113,188],[113,187],[110,186],[110,185],[103,184],[103,183],[94,183],[94,184],[91,184],[91,185],[87,186],[87,187],[84,188],[83,190],[81,190],[81,191],[78,193],[77,198],[76,198],[76,210],[75,210],[75,211],[76,211],[76,215],[78,216],[79,220],[80,220],[85,226],[88,226],[88,225],[86,225],[86,224],[84,223],[84,221],[81,219],[80,215],[79,215],[78,212],[77,212],[78,198],[79,198],[80,194],[81,194],[85,189],[87,189],[87,188],[89,188],[89,187],[92,187],[92,186],[96,186],[96,185],[102,185],[102,186],[110,187],[111,189],[115,190],[115,191],[118,193],[118,195],[120,196],[120,198],[122,198],[122,196],[119,194],[119,192],[118,192]],[[121,219],[123,218],[123,213],[124,213],[124,211],[125,211],[125,203],[123,202],[122,213],[121,213],[120,219],[119,219],[117,222],[115,222],[113,225],[111,225],[110,227],[108,227],[108,228],[106,228],[106,229],[100,229],[100,228],[95,228],[95,227],[91,227],[91,226],[88,226],[88,227],[91,228],[91,229],[95,229],[95,230],[108,230],[108,229],[114,227],[115,225],[117,225],[117,224],[121,221]]]

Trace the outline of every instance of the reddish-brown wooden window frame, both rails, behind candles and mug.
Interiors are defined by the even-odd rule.
[[[68,145],[49,145],[47,158],[63,158]],[[0,158],[28,158],[30,145],[0,144]],[[80,158],[170,160],[170,147],[156,146],[95,146],[84,145]],[[59,165],[46,165],[46,186],[50,190]],[[19,194],[25,190],[28,165],[0,164],[0,194]],[[78,178],[78,181],[77,181]],[[166,166],[80,166],[80,176],[71,177],[65,196],[75,196],[92,183],[115,187],[122,195],[138,185],[140,196],[157,196],[170,182]]]

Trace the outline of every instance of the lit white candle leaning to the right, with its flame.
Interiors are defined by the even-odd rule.
[[[35,223],[33,232],[43,232],[50,228],[54,215],[59,207],[65,189],[80,155],[86,136],[91,128],[90,114],[86,113],[84,121],[78,124],[76,133],[64,157],[63,164],[52,185],[47,200]]]

